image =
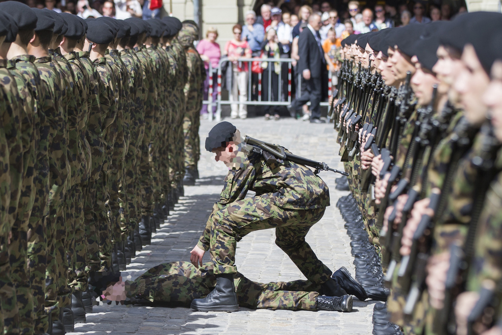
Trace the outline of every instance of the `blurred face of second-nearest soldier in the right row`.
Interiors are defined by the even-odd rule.
[[[452,88],[460,98],[467,121],[479,126],[486,120],[487,108],[482,96],[490,80],[471,44],[464,47],[462,62],[464,68],[458,74]]]

